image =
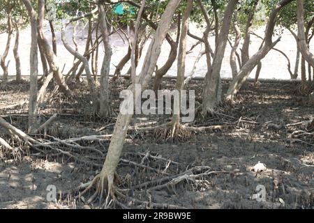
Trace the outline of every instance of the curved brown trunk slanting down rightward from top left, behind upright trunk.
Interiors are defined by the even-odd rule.
[[[54,73],[54,79],[59,86],[59,89],[65,93],[66,95],[70,94],[70,90],[64,81],[62,72],[60,70],[58,59],[56,54],[52,51],[50,44],[45,38],[45,34],[43,33],[43,19],[45,14],[45,0],[38,0],[38,40],[40,44],[43,45],[43,50],[45,52],[46,59],[49,63],[50,69]]]

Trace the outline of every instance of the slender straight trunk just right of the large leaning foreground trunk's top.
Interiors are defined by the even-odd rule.
[[[184,75],[186,72],[186,39],[188,36],[188,21],[190,17],[190,12],[193,7],[193,0],[187,0],[186,11],[184,12],[184,17],[182,19],[181,37],[179,42],[179,53],[178,53],[178,63],[177,63],[177,90],[179,91],[179,107],[181,106],[181,91],[184,87]],[[179,109],[181,111],[181,109]],[[172,137],[174,137],[174,132],[176,128],[180,125],[180,113],[173,114],[172,116]]]

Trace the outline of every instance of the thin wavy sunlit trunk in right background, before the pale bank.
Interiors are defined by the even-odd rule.
[[[241,31],[238,25],[238,12],[237,10],[234,11],[234,22],[233,22],[233,29],[235,33],[235,40],[234,45],[232,46],[231,53],[230,53],[230,67],[232,72],[232,78],[237,76],[238,69],[237,69],[237,49],[241,40]]]

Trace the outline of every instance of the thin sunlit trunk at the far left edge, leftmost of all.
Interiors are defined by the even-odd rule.
[[[7,10],[6,13],[8,13],[8,18],[7,18],[7,31],[8,31],[8,39],[6,40],[6,49],[4,49],[3,54],[0,56],[0,66],[3,70],[3,78],[2,78],[2,82],[1,82],[1,87],[5,87],[6,86],[6,82],[8,82],[8,65],[10,63],[10,61],[8,61],[8,63],[6,64],[6,56],[8,56],[8,51],[10,49],[10,43],[11,43],[11,37],[12,37],[12,33],[13,33],[13,29],[12,29],[12,9],[13,7],[10,5],[10,3],[8,3],[7,6]]]

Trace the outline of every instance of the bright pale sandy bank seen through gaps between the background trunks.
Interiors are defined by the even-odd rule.
[[[82,26],[79,26],[77,29],[77,43],[79,45],[80,52],[84,52],[84,46],[86,39],[83,39],[84,37],[87,37],[87,28],[82,31]],[[61,33],[60,33],[60,25],[56,26],[57,29],[57,49],[58,49],[58,59],[59,59],[59,64],[61,68],[65,66],[65,72],[67,70],[70,70],[72,67],[73,63],[73,56],[67,52],[65,47],[63,47],[63,44],[61,42]],[[260,29],[257,29],[255,32],[258,33],[260,36],[264,36],[264,29],[265,27],[261,27]],[[192,25],[190,27],[190,30],[192,33],[197,34],[198,36],[202,36],[202,31],[197,29],[195,25]],[[72,29],[68,29],[67,31],[67,39],[68,43],[73,43],[72,42]],[[51,41],[51,32],[49,29],[49,25],[45,24],[45,35],[46,38]],[[29,75],[29,46],[30,46],[30,41],[31,41],[31,33],[30,29],[24,29],[20,33],[21,40],[20,40],[20,58],[21,58],[21,63],[22,63],[22,70],[23,74],[22,75]],[[121,34],[120,36],[123,36]],[[117,65],[119,63],[119,60],[126,54],[128,50],[128,41],[124,38],[123,40],[120,38],[120,36],[115,33],[110,37],[110,41],[112,43],[112,66],[111,66],[111,73],[114,72],[114,65]],[[82,38],[83,37],[83,38]],[[4,48],[6,46],[6,38],[7,35],[6,33],[3,33],[0,35],[0,54],[1,52],[4,51]],[[278,36],[274,36],[274,39],[278,38]],[[193,40],[192,38],[188,38],[188,49],[190,46],[192,46],[196,41]],[[214,46],[214,37],[210,38],[210,43],[211,46]],[[257,49],[260,47],[261,40],[255,36],[251,37],[251,47],[250,47],[250,54],[254,54],[257,52]],[[11,44],[11,49],[13,49],[14,45],[14,38]],[[149,42],[145,45],[144,47],[144,54],[147,51],[147,47],[149,45]],[[310,48],[313,49],[314,47],[314,42],[311,43]],[[240,47],[241,48],[241,45]],[[295,63],[295,56],[296,56],[296,43],[293,38],[293,36],[290,34],[289,31],[284,31],[282,34],[281,41],[276,45],[276,48],[281,49],[287,56],[290,58],[290,63],[292,66],[292,71],[294,69],[294,63]],[[101,63],[102,63],[102,58],[103,58],[103,45],[100,47],[100,54],[99,54],[99,61],[98,61],[98,67],[100,70]],[[221,77],[231,77],[231,69],[230,69],[230,62],[229,62],[229,57],[230,57],[230,45],[227,44],[227,48],[225,51],[225,58],[223,60],[223,66],[221,69]],[[162,47],[162,52],[160,54],[159,60],[158,60],[158,66],[162,66],[163,63],[167,60],[168,54],[170,52],[170,46],[166,43],[163,44]],[[197,54],[200,52],[200,47],[195,47],[192,53],[188,54],[188,59],[187,61],[190,61],[190,63],[187,63],[186,65],[186,74],[190,72],[193,68],[193,63],[195,61],[195,58],[197,57]],[[15,60],[13,56],[12,50],[10,50],[10,53],[8,55],[7,61],[10,60],[10,66],[9,66],[9,75],[15,75]],[[40,62],[40,60],[39,60]],[[140,61],[140,66],[138,67],[139,69],[142,66],[143,58]],[[271,51],[267,56],[262,60],[262,63],[264,64],[262,71],[260,73],[260,78],[263,79],[290,79],[289,72],[287,72],[287,60],[285,57],[280,54],[279,52],[276,51]],[[40,68],[40,66],[39,66]],[[123,72],[126,72],[128,70],[128,66],[124,68]],[[276,71],[276,72],[274,72]],[[41,70],[39,70],[41,72]],[[100,72],[100,71],[99,71]],[[204,76],[207,72],[207,66],[206,66],[206,61],[205,61],[205,56],[202,57],[200,60],[199,65],[197,66],[197,70],[195,72],[195,76]],[[255,70],[253,70],[252,74],[250,77],[254,77]],[[0,71],[0,75],[2,75],[2,70]],[[170,71],[167,73],[167,75],[177,75],[177,63],[175,62]]]

